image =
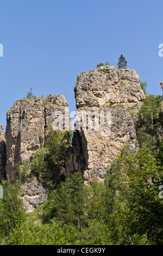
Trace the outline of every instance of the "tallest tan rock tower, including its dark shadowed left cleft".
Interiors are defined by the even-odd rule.
[[[103,180],[123,145],[135,150],[135,114],[145,98],[139,75],[135,70],[101,66],[79,74],[74,92],[77,126],[66,173],[79,170],[85,182]]]

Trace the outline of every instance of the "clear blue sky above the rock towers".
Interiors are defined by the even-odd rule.
[[[147,93],[162,95],[162,7],[162,0],[1,0],[0,123],[31,87],[36,96],[65,95],[76,110],[77,74],[106,60],[117,66],[121,53]]]

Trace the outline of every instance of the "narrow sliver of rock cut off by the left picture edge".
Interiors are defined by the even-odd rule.
[[[3,125],[0,124],[0,176],[5,178],[5,165],[6,165],[6,147],[5,135],[3,132]]]

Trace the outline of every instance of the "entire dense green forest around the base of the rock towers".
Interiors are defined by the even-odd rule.
[[[141,87],[145,90],[146,83]],[[33,160],[18,164],[18,180],[1,180],[0,244],[162,245],[161,100],[160,95],[146,95],[135,122],[136,153],[124,145],[101,183],[86,186],[82,173],[64,179],[60,170],[72,135],[51,130]],[[49,193],[27,213],[20,186],[32,176],[48,180]]]

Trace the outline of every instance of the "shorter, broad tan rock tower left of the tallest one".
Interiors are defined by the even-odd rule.
[[[19,99],[7,112],[7,175],[16,178],[18,161],[29,161],[45,143],[49,127],[63,118],[62,130],[71,129],[68,103],[64,96],[31,97]],[[55,122],[57,124],[57,121]],[[67,127],[65,127],[65,124]]]

